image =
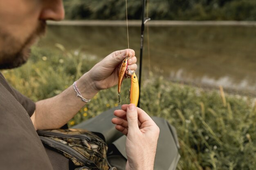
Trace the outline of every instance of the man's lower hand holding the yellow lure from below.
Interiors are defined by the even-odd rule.
[[[159,128],[155,122],[134,104],[123,105],[115,110],[112,123],[116,129],[127,135],[126,170],[153,170]]]

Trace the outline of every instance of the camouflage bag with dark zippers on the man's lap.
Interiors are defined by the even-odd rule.
[[[42,143],[70,159],[75,170],[117,170],[107,161],[105,141],[84,129],[38,130]]]

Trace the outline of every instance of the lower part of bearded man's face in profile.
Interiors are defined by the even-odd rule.
[[[0,69],[25,63],[46,20],[62,20],[62,0],[0,0]]]

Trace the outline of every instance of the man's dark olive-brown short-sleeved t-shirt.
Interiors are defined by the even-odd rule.
[[[0,73],[0,170],[53,170],[30,119],[34,110]]]

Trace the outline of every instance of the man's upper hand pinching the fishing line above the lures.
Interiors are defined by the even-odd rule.
[[[97,91],[115,86],[118,82],[121,63],[127,56],[131,57],[130,60],[128,60],[128,67],[132,71],[136,70],[137,58],[135,57],[135,51],[132,49],[125,49],[115,51],[105,57],[87,73],[88,76],[82,76],[79,81],[92,81],[93,88]]]

